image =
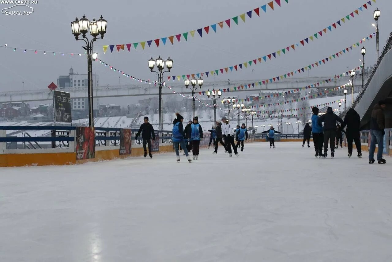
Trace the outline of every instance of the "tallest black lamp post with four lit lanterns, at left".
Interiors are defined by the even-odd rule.
[[[88,83],[88,100],[89,100],[89,126],[94,127],[94,110],[93,110],[93,56],[96,59],[96,53],[93,54],[93,43],[97,40],[98,35],[103,35],[106,33],[107,21],[102,18],[93,21],[89,21],[83,15],[83,18],[78,19],[76,17],[75,21],[71,23],[72,34],[76,40],[83,40],[86,45],[83,49],[87,51],[87,83]],[[90,35],[93,37],[91,41],[86,37],[87,32],[90,30]],[[83,38],[79,38],[82,34]]]

